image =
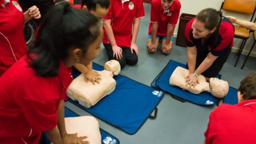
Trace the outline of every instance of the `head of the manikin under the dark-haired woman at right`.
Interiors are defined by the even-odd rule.
[[[218,78],[210,78],[210,89],[211,94],[215,97],[222,98],[228,92],[228,83],[227,81],[218,79]]]

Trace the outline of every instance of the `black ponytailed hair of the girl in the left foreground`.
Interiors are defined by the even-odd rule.
[[[37,75],[56,76],[60,61],[67,60],[72,49],[79,48],[84,55],[99,34],[100,25],[93,15],[60,3],[46,14],[36,41],[28,49],[30,66]]]

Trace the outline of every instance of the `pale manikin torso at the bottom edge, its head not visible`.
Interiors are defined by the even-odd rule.
[[[65,117],[67,133],[76,133],[77,136],[88,136],[86,141],[93,144],[101,144],[99,123],[92,116]],[[53,143],[51,143],[53,144]]]

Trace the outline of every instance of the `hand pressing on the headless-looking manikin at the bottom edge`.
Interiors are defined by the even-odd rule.
[[[63,138],[63,144],[84,144],[84,143],[90,143],[90,141],[84,141],[83,139],[86,139],[87,136],[77,136],[77,133],[73,134],[67,134]]]

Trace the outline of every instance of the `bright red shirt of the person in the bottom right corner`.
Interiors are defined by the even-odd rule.
[[[256,143],[256,99],[214,109],[205,137],[205,143]]]

